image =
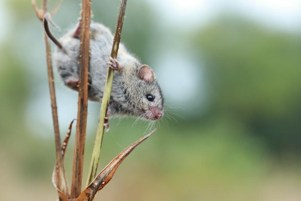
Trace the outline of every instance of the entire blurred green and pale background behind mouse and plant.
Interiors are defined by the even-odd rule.
[[[76,24],[79,4],[62,2],[57,37]],[[93,20],[114,30],[118,6],[92,1]],[[56,200],[42,27],[29,0],[0,1],[0,26],[0,200]],[[300,31],[295,0],[128,1],[122,42],[154,69],[169,117],[95,200],[300,200]],[[64,136],[77,93],[55,76]],[[89,102],[83,183],[99,108]],[[134,122],[111,119],[98,171],[146,133]]]

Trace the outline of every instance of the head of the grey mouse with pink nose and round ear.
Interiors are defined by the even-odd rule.
[[[142,65],[138,68],[137,73],[138,83],[132,90],[133,99],[131,100],[136,109],[135,114],[148,120],[162,118],[164,98],[154,72],[151,67]]]

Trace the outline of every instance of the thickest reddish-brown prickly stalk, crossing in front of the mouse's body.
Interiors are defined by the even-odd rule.
[[[82,0],[82,17],[80,20],[80,53],[79,53],[79,96],[76,121],[75,147],[73,155],[73,174],[71,198],[81,193],[82,170],[87,127],[88,109],[88,73],[90,45],[91,0]]]

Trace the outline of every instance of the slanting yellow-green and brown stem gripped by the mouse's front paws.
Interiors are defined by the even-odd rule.
[[[116,29],[115,29],[115,36],[114,36],[113,46],[112,46],[112,51],[111,51],[112,58],[117,57],[125,11],[126,11],[126,0],[122,0],[120,3],[120,7],[119,7],[119,14],[118,14],[118,19],[117,19],[117,24],[116,24]],[[88,179],[87,179],[86,186],[88,186],[94,180],[96,171],[97,171],[100,150],[101,150],[101,143],[102,143],[102,138],[103,138],[103,134],[104,134],[104,117],[107,114],[107,110],[108,110],[108,106],[109,106],[112,83],[113,83],[113,75],[114,75],[114,70],[109,68],[109,66],[108,66],[107,77],[106,77],[105,86],[104,86],[104,94],[103,94],[103,98],[102,98],[102,102],[101,102],[99,123],[98,123],[95,144],[94,144],[94,149],[93,149],[93,153],[92,153],[92,159],[91,159],[91,164],[90,164],[90,169],[89,169],[89,173],[88,173]]]

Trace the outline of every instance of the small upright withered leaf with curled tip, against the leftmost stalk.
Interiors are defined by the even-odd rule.
[[[73,119],[69,125],[69,128],[67,130],[67,134],[66,134],[66,137],[65,137],[65,140],[64,140],[64,143],[63,143],[63,146],[62,146],[62,149],[61,149],[61,152],[62,152],[62,160],[64,160],[64,156],[65,156],[65,152],[66,152],[66,148],[67,148],[67,145],[68,145],[68,141],[69,141],[69,138],[70,138],[70,134],[71,134],[71,129],[72,129],[72,124],[73,124],[73,121],[75,119]],[[63,161],[64,162],[64,161]],[[58,184],[58,177],[63,177],[63,179],[61,179],[60,181],[66,181],[66,174],[65,172],[60,172],[59,171],[59,168],[57,166],[57,162],[55,163],[55,166],[54,166],[54,169],[53,169],[53,173],[52,173],[52,183],[54,185],[54,187],[57,189],[57,192],[59,194],[59,198],[60,200],[68,200],[68,197],[69,197],[69,190],[68,190],[68,184],[66,182],[66,192],[62,192],[61,189],[59,189],[58,187],[60,186]]]

